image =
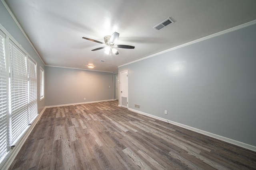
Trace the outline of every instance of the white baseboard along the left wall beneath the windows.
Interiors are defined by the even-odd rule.
[[[38,122],[38,120],[42,116],[42,113],[44,113],[45,109],[46,109],[46,107],[44,107],[44,109],[41,111],[41,113],[38,115],[38,117],[36,117],[36,119],[33,121],[33,123],[30,125],[30,127],[28,127],[28,130],[26,131],[26,133],[24,133],[24,135],[21,137],[21,139],[15,144],[15,147],[13,149],[11,149],[6,154],[6,156],[5,156],[5,158],[2,161],[1,166],[0,166],[1,170],[9,169],[9,167],[11,166],[14,158],[17,156],[17,154],[20,151],[20,149],[22,148],[23,144],[28,139],[28,136],[30,135],[30,133],[34,129],[36,123]]]

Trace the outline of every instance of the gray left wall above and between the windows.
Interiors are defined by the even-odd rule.
[[[39,73],[40,73],[40,66],[44,68],[44,63],[42,63],[41,59],[38,57],[36,52],[34,51],[33,47],[30,45],[26,37],[23,35],[22,31],[20,31],[18,25],[12,19],[2,2],[0,2],[0,23],[3,27],[14,37],[20,45],[26,50],[26,52],[37,62],[37,76],[38,76],[38,113],[40,113],[45,107],[45,100],[40,101],[40,80],[39,80]]]

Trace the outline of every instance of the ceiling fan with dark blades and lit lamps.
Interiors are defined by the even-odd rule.
[[[93,41],[95,43],[105,44],[106,45],[105,47],[96,48],[96,49],[93,49],[92,51],[106,49],[105,53],[107,53],[109,55],[111,54],[111,51],[112,51],[112,53],[114,53],[116,55],[119,54],[118,51],[114,47],[118,47],[118,48],[122,48],[122,49],[134,49],[135,48],[134,46],[131,46],[131,45],[115,45],[116,41],[118,40],[118,37],[119,37],[119,33],[117,33],[117,32],[114,32],[111,36],[107,35],[104,37],[105,43],[102,43],[95,39],[86,38],[86,37],[82,37],[82,38],[87,39],[89,41]]]

